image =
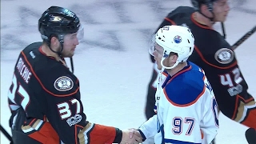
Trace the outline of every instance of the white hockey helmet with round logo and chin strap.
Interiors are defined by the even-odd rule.
[[[185,26],[163,26],[155,34],[155,42],[163,48],[161,65],[165,69],[173,69],[179,62],[186,62],[194,50],[194,36]],[[162,62],[170,52],[177,53],[178,59],[174,66],[163,66]]]

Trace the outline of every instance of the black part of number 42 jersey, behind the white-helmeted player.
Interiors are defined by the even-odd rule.
[[[187,26],[194,34],[194,52],[189,61],[205,70],[213,87],[218,106],[229,118],[236,118],[240,102],[254,100],[247,93],[248,86],[238,67],[234,51],[217,31],[194,20],[194,8],[180,6],[166,16],[158,27],[168,25]]]

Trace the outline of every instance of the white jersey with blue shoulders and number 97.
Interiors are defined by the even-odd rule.
[[[162,72],[158,80],[157,114],[139,127],[142,137],[154,136],[156,144],[210,144],[218,132],[218,105],[203,70],[188,62],[174,76]]]

